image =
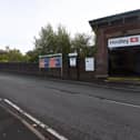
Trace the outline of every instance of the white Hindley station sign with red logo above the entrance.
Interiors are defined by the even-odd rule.
[[[140,36],[112,38],[108,40],[109,48],[140,46]]]

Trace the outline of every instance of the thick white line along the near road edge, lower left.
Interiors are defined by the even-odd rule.
[[[8,103],[9,106],[11,106],[12,108],[14,108],[17,111],[19,111],[21,114],[26,116],[27,118],[29,118],[30,120],[32,120],[34,123],[37,123],[38,126],[40,126],[42,129],[44,129],[46,131],[50,132],[52,136],[54,136],[56,138],[58,138],[59,140],[68,140],[66,137],[61,136],[60,133],[58,133],[56,130],[53,130],[52,128],[50,128],[49,126],[44,124],[43,122],[41,122],[40,120],[36,119],[34,117],[32,117],[31,114],[27,113],[26,111],[23,111],[20,107],[18,107],[16,103],[11,102],[8,99],[3,99],[3,101],[6,103]]]

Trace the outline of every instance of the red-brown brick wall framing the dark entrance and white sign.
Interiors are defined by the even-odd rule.
[[[140,22],[99,28],[97,31],[96,77],[108,77],[108,39],[112,37],[140,34]]]

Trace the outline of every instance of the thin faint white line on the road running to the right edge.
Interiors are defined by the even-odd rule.
[[[103,99],[103,100],[108,101],[108,102],[111,102],[111,103],[116,103],[116,104],[128,106],[128,107],[140,109],[140,106],[136,106],[136,104],[131,104],[131,103],[124,103],[124,102],[119,102],[119,101],[109,100],[109,99]]]

